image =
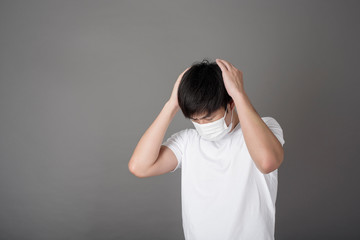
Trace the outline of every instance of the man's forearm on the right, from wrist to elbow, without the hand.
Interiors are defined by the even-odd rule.
[[[256,112],[245,92],[236,94],[233,100],[251,158],[261,172],[272,172],[283,160],[281,143]]]

